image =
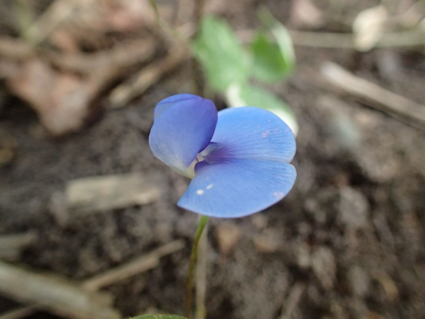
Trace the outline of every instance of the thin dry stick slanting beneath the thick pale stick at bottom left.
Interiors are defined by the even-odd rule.
[[[184,248],[183,240],[175,240],[165,244],[144,256],[134,259],[125,265],[118,268],[106,271],[103,274],[96,275],[82,283],[82,288],[88,292],[94,292],[113,283],[125,280],[138,273],[142,273],[149,269],[155,268],[159,264],[159,259],[167,254],[176,252]],[[26,306],[19,309],[12,310],[8,313],[0,315],[0,319],[20,319],[30,316],[38,309],[34,306]],[[95,317],[93,317],[95,318]]]

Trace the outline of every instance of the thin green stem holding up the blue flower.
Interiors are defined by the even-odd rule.
[[[189,271],[186,282],[186,299],[185,299],[185,317],[190,318],[193,304],[193,278],[195,276],[196,259],[198,256],[198,244],[201,239],[205,225],[207,225],[208,216],[201,216],[198,229],[196,229],[195,239],[193,239],[192,252],[190,253]]]

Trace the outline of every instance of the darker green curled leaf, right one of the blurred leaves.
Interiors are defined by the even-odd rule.
[[[253,56],[252,75],[264,82],[284,79],[295,68],[295,52],[286,28],[267,9],[258,13],[264,25],[270,29],[275,42],[263,32],[258,33],[251,44]]]

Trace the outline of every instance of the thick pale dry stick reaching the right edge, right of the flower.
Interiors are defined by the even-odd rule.
[[[320,74],[328,83],[353,95],[357,100],[408,124],[425,129],[425,105],[385,90],[332,62],[323,63]]]

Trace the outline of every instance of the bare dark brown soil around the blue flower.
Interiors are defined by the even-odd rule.
[[[253,1],[244,4],[246,16],[253,16]],[[286,4],[270,5],[286,12]],[[279,18],[285,22],[287,14]],[[231,13],[229,19],[249,24]],[[336,96],[308,72],[332,60],[425,104],[423,54],[315,48],[297,48],[296,54],[295,74],[272,89],[299,122],[297,182],[266,211],[211,220],[208,318],[278,318],[294,287],[301,294],[292,318],[425,318],[425,132]],[[108,287],[124,316],[153,308],[183,312],[197,216],[176,206],[189,181],[153,157],[147,138],[156,103],[190,90],[187,69],[181,66],[140,100],[61,139],[47,137],[19,101],[9,98],[0,108],[1,134],[12,137],[17,149],[13,161],[0,168],[0,234],[31,229],[40,236],[23,253],[24,264],[84,279],[174,238],[187,240],[187,248],[161,259],[159,267]],[[215,102],[224,107],[219,97]],[[127,172],[160,173],[161,199],[76,218],[66,226],[55,219],[51,198],[67,181]],[[240,238],[225,254],[217,234],[229,224]],[[0,311],[15,305],[2,301]]]

